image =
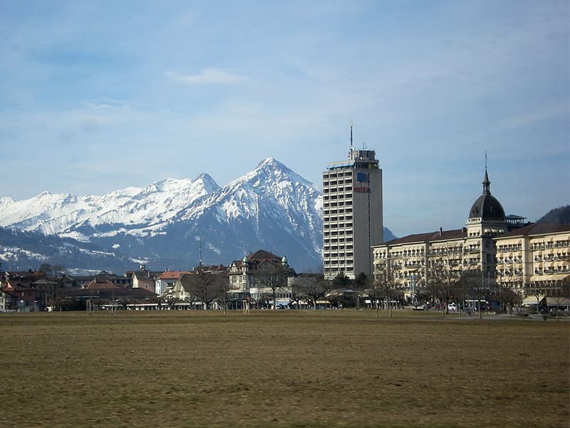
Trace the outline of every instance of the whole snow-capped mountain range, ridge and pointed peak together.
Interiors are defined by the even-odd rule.
[[[321,191],[268,158],[223,188],[207,174],[103,196],[0,198],[0,226],[74,238],[138,260],[229,263],[259,248],[296,269],[321,265]],[[175,266],[156,266],[175,267]],[[102,267],[103,268],[103,267]]]

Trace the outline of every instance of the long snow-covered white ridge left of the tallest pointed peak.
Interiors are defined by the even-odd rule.
[[[201,174],[194,180],[168,178],[142,189],[126,188],[103,196],[43,192],[19,202],[1,198],[0,226],[78,240],[90,240],[90,235],[100,233],[101,225],[111,235],[125,230],[145,235],[165,225],[193,200],[217,189],[209,175]],[[108,225],[117,227],[109,230]],[[85,226],[91,233],[78,233]]]

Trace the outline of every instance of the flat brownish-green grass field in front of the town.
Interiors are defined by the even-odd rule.
[[[569,426],[570,322],[281,310],[0,327],[0,427]]]

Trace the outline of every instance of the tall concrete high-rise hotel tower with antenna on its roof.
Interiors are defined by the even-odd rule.
[[[351,145],[346,161],[323,172],[323,262],[325,277],[353,279],[373,272],[372,245],[383,241],[382,170],[375,151]]]

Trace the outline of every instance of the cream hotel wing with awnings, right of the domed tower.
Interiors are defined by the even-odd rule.
[[[570,282],[570,225],[531,223],[495,238],[497,280],[522,295],[561,295]],[[568,297],[568,296],[566,296]]]

